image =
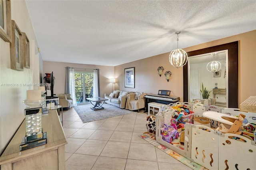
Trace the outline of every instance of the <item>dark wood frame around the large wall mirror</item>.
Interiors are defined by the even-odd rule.
[[[238,108],[238,41],[187,52],[188,57],[228,49],[228,107]],[[188,65],[183,67],[183,101],[188,101]]]

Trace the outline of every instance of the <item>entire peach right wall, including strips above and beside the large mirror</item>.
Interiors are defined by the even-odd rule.
[[[238,41],[238,105],[250,96],[256,96],[256,30],[212,42],[184,48],[194,51],[215,45]],[[162,65],[165,71],[171,71],[171,79],[159,77],[157,68]],[[124,68],[135,67],[135,89],[124,87]],[[169,63],[169,52],[146,59],[118,65],[115,67],[116,89],[128,91],[143,91],[156,94],[159,89],[171,90],[171,96],[180,97],[183,101],[183,69],[176,69]]]

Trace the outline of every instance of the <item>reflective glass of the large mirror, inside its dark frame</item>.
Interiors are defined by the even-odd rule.
[[[218,71],[211,69],[212,61],[218,63]],[[228,50],[195,55],[188,58],[188,101],[204,99],[202,85],[209,91],[209,98],[216,99],[215,105],[228,107]]]

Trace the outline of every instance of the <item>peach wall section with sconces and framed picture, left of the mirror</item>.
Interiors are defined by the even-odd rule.
[[[164,67],[161,77],[157,70],[159,66]],[[135,67],[135,89],[124,87],[124,68],[129,67]],[[166,71],[172,72],[169,82],[164,75]],[[180,97],[183,101],[183,71],[182,68],[176,69],[170,65],[169,53],[118,65],[115,67],[115,77],[116,89],[153,94],[157,94],[158,90],[171,90],[171,96]]]

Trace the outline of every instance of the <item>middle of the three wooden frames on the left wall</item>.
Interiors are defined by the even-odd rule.
[[[11,69],[23,71],[22,32],[12,20],[12,43],[10,43]]]

